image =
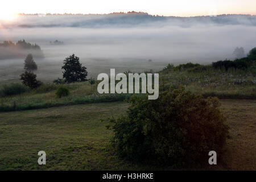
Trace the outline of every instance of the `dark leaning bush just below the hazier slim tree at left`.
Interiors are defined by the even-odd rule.
[[[22,80],[22,83],[26,86],[28,86],[31,89],[38,88],[43,83],[41,81],[36,80],[36,75],[32,72],[25,72],[20,75],[20,80]]]

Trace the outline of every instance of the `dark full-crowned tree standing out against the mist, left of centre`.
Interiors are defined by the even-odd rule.
[[[79,57],[73,54],[66,57],[63,63],[64,66],[62,69],[64,69],[63,78],[65,79],[65,82],[86,81],[87,71],[79,62]]]

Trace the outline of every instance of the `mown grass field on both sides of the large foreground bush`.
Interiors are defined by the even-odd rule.
[[[255,100],[221,100],[230,139],[224,163],[205,169],[256,168]],[[60,106],[0,113],[0,170],[171,169],[133,164],[109,149],[112,131],[101,118],[125,114],[126,102]],[[38,165],[38,151],[47,164]]]

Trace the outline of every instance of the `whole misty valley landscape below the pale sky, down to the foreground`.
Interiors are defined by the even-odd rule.
[[[0,170],[255,170],[255,32],[242,14],[0,16]]]

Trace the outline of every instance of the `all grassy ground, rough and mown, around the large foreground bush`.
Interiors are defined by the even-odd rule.
[[[199,70],[197,70],[199,69]],[[224,161],[204,169],[255,170],[256,79],[239,69],[189,68],[168,65],[160,75],[160,88],[174,85],[203,96],[221,99],[230,127]],[[65,86],[67,97],[56,90]],[[129,94],[97,94],[97,83],[44,83],[34,90],[4,96],[0,85],[0,170],[142,170],[172,169],[131,163],[109,147],[113,133],[101,119],[125,114]],[[2,93],[1,93],[2,92]],[[37,152],[47,154],[39,166]]]

